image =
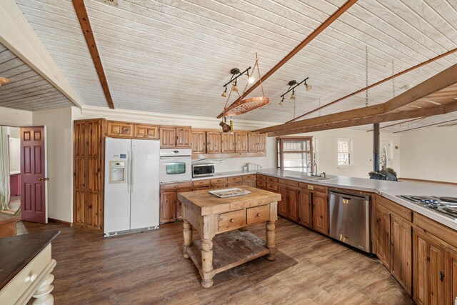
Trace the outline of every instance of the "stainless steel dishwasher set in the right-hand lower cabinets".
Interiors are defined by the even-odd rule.
[[[329,194],[330,236],[371,253],[370,196],[337,191]]]

